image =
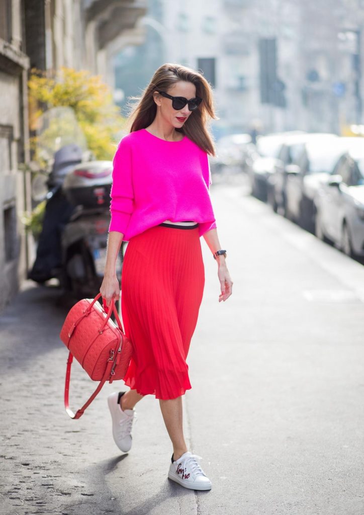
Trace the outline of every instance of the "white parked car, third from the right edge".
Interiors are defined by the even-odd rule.
[[[279,151],[287,136],[304,134],[302,131],[280,132],[258,136],[256,152],[253,155],[251,166],[247,169],[251,194],[264,202],[267,201],[268,180],[278,166]]]

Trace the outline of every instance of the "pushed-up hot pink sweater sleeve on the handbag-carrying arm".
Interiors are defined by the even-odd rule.
[[[130,146],[122,139],[113,159],[113,182],[110,191],[110,231],[125,234],[133,212],[132,158]]]

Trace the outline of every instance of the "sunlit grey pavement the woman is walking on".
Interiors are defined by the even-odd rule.
[[[0,314],[0,513],[364,513],[364,267],[238,181],[211,196],[233,295],[218,303],[216,262],[201,238],[205,290],[183,402],[188,445],[212,490],[167,479],[171,445],[151,396],[137,405],[128,454],[111,434],[115,385],[68,418],[67,310],[58,288],[27,281]],[[71,405],[94,386],[76,363]]]

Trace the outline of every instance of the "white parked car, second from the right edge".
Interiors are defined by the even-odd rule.
[[[317,134],[302,144],[302,150],[287,169],[286,216],[310,232],[315,231],[314,197],[322,181],[332,173],[344,151],[345,138]]]

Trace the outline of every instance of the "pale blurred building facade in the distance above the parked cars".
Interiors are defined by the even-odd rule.
[[[364,25],[362,0],[333,0],[330,6],[327,0],[213,0],[209,10],[193,0],[162,0],[162,5],[166,60],[198,69],[199,59],[215,59],[214,96],[221,118],[213,124],[217,135],[245,132],[256,119],[265,132],[340,132],[341,119],[355,123],[358,118],[355,49],[340,46],[338,35]],[[286,108],[261,102],[260,38],[276,38]],[[362,69],[363,44],[364,32]],[[311,69],[319,80],[308,78]],[[334,91],[336,82],[345,84],[342,97]]]

